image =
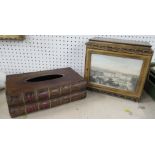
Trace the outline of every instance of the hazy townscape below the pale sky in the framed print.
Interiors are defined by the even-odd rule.
[[[134,91],[136,88],[138,76],[125,74],[107,69],[92,68],[90,81],[104,86]]]

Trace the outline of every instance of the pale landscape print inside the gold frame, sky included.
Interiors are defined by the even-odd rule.
[[[91,55],[90,82],[135,91],[143,61],[100,54]]]

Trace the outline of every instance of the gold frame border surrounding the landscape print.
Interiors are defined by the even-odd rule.
[[[124,57],[124,58],[133,58],[133,59],[141,59],[143,60],[143,65],[140,73],[140,77],[136,86],[135,92],[130,92],[126,90],[120,90],[116,88],[111,88],[99,84],[94,84],[89,82],[89,77],[90,77],[90,67],[91,67],[91,54],[102,54],[102,55],[109,55],[109,56],[116,56],[116,57]],[[114,52],[114,51],[107,51],[103,49],[93,49],[93,48],[88,48],[86,49],[86,62],[85,62],[85,79],[88,81],[88,88],[110,93],[110,94],[115,94],[118,96],[123,96],[125,98],[129,99],[134,99],[135,101],[138,101],[141,97],[144,84],[147,78],[147,73],[149,70],[150,66],[150,61],[151,57],[150,55],[146,54],[138,54],[138,53],[124,53],[121,51]]]

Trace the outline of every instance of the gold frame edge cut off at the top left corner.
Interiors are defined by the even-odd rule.
[[[0,40],[24,40],[24,35],[0,35]]]

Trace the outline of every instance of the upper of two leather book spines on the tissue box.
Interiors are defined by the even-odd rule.
[[[32,92],[21,93],[20,96],[10,96],[6,93],[8,106],[33,104],[38,101],[47,101],[71,93],[86,90],[86,81],[79,83],[63,85],[58,88],[43,88],[39,90],[32,90]]]

